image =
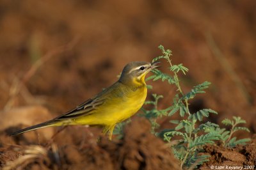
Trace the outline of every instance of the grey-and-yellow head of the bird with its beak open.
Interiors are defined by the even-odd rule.
[[[157,68],[157,63],[159,62],[148,63],[144,61],[134,61],[128,63],[124,67],[119,80],[128,84],[145,84],[145,75],[147,75],[153,68]]]

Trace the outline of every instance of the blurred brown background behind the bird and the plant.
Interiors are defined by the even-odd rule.
[[[255,9],[256,1],[247,0],[1,0],[1,110],[43,105],[66,112],[115,82],[126,63],[160,56],[162,44],[173,51],[173,63],[189,68],[185,92],[212,82],[191,103],[193,111],[218,111],[210,118],[215,123],[241,116],[255,133]],[[148,84],[148,94],[164,95],[159,107],[170,105],[174,87]]]

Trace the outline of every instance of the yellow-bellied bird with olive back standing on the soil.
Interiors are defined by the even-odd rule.
[[[9,135],[23,134],[45,127],[92,125],[103,127],[102,134],[108,135],[111,141],[115,125],[136,114],[144,104],[147,97],[145,76],[158,67],[157,63],[159,62],[128,63],[124,66],[118,81],[76,108],[52,120],[17,130]]]

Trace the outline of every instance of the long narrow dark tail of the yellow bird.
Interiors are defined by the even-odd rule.
[[[54,125],[56,125],[56,123],[58,123],[58,120],[49,120],[49,121],[45,121],[44,123],[33,125],[32,127],[27,127],[27,128],[17,130],[16,132],[13,132],[12,134],[8,134],[8,135],[13,136],[13,135],[18,135],[18,134],[23,134],[25,132],[36,130],[39,128],[54,127]]]

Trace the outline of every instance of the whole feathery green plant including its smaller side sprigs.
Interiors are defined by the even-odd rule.
[[[157,107],[159,99],[163,98],[163,96],[153,94],[152,97],[154,100],[145,102],[145,105],[152,105],[152,109],[143,108],[143,114],[141,115],[145,116],[145,118],[150,121],[153,134],[163,137],[164,141],[170,143],[173,153],[180,160],[180,167],[188,168],[198,166],[207,161],[209,156],[202,155],[203,146],[205,144],[215,144],[215,141],[221,141],[224,146],[233,147],[236,146],[236,144],[245,144],[245,142],[249,141],[249,139],[236,140],[236,137],[231,138],[237,130],[249,131],[248,128],[237,127],[239,123],[245,123],[241,118],[234,117],[234,121],[228,119],[223,120],[222,123],[224,125],[232,126],[231,130],[226,130],[226,128],[220,128],[219,125],[209,121],[202,123],[205,117],[209,117],[209,114],[218,114],[216,111],[212,109],[202,109],[195,113],[189,111],[189,101],[198,93],[205,93],[204,90],[209,87],[211,82],[202,82],[194,86],[188,93],[184,93],[180,86],[178,73],[186,75],[188,68],[182,64],[173,65],[171,50],[165,50],[162,45],[159,46],[159,49],[163,55],[154,58],[152,61],[165,59],[170,65],[169,70],[172,75],[154,69],[152,70],[154,75],[148,77],[146,81],[167,81],[168,84],[176,86],[177,94],[175,94],[173,98],[172,105],[165,109],[159,109]],[[170,121],[170,123],[174,123],[176,127],[157,132],[157,128],[159,127],[157,119],[162,116],[172,116],[176,112],[179,112],[181,120]],[[177,139],[176,143],[172,144],[174,139]]]

